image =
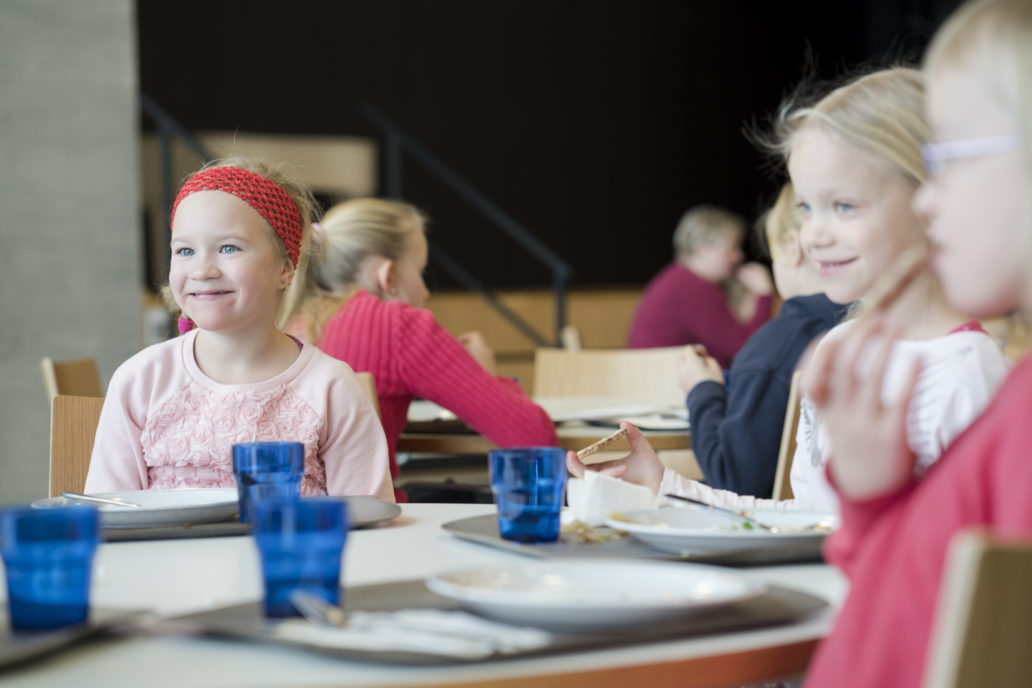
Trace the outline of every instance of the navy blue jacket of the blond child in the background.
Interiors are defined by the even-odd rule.
[[[824,294],[788,299],[735,356],[727,389],[710,381],[691,389],[691,449],[708,485],[771,496],[792,373],[810,341],[847,307]]]

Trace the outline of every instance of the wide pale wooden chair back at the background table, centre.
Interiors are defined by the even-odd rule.
[[[538,349],[534,394],[680,405],[685,397],[677,380],[681,349]]]

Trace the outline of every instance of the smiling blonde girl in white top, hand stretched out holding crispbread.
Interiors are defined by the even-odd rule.
[[[927,252],[929,247],[928,223],[911,207],[926,178],[921,146],[928,140],[928,125],[923,107],[921,73],[899,67],[856,78],[812,105],[789,103],[779,119],[772,145],[788,167],[803,249],[817,267],[828,298],[836,303],[859,300],[858,313],[900,255]],[[913,362],[924,364],[906,428],[920,473],[986,407],[1009,361],[977,321],[946,303],[928,269],[917,271],[899,290],[889,315],[900,323],[901,338],[892,350],[882,388],[885,398],[899,400],[908,393]],[[816,350],[847,336],[856,326],[856,320],[836,326]],[[805,396],[789,474],[793,499],[756,499],[715,490],[665,470],[640,433],[632,432],[628,440],[628,457],[596,465],[657,494],[677,493],[728,509],[838,510],[825,479],[832,447],[820,415]],[[568,459],[571,470],[582,470],[577,463]]]

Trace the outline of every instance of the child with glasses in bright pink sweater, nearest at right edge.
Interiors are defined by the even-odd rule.
[[[946,302],[978,318],[1032,310],[1032,3],[968,3],[936,33],[926,59],[933,143],[914,198],[930,220],[932,268]],[[842,526],[825,546],[849,594],[821,642],[807,688],[916,688],[950,540],[977,528],[1032,535],[1032,359],[1025,355],[986,412],[927,472],[907,441],[927,361],[880,393],[896,312],[878,312],[818,351],[804,374],[834,451],[828,478]],[[873,359],[864,374],[854,362]],[[1026,677],[1027,679],[1028,677]],[[927,677],[926,677],[927,679]]]

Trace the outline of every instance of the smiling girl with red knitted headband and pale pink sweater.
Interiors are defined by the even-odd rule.
[[[116,370],[88,492],[232,487],[234,444],[290,440],[304,445],[302,494],[393,500],[383,429],[355,374],[278,327],[311,208],[303,185],[243,158],[183,185],[166,294],[185,334]]]

